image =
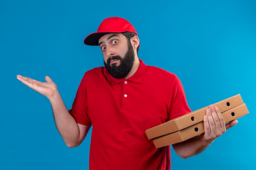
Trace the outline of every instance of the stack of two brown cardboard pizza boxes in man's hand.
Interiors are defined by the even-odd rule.
[[[249,113],[240,94],[213,104],[217,106],[225,123]],[[182,115],[163,124],[146,130],[156,148],[176,144],[204,133],[203,117],[209,106]]]

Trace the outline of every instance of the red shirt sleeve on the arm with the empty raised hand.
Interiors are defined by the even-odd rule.
[[[92,124],[90,117],[88,116],[85,75],[83,76],[83,79],[78,87],[76,97],[72,104],[72,108],[69,110],[69,113],[74,117],[76,123],[86,126],[90,126]]]

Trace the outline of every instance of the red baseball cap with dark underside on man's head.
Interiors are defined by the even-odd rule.
[[[97,32],[91,33],[83,41],[86,45],[99,45],[99,39],[108,33],[122,33],[122,32],[136,33],[135,28],[130,22],[124,18],[110,17],[101,22]],[[137,34],[137,33],[136,33]]]

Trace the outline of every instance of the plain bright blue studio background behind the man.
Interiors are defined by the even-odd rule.
[[[255,168],[256,1],[1,0],[0,169],[88,169],[90,132],[67,148],[48,99],[16,75],[49,75],[71,108],[85,71],[103,66],[99,47],[83,39],[111,16],[135,26],[140,59],[180,77],[192,110],[238,93],[249,109],[200,155],[172,150],[172,169]]]

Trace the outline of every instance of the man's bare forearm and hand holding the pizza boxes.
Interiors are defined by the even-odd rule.
[[[180,157],[186,159],[204,151],[213,141],[226,132],[226,129],[237,124],[237,120],[225,125],[225,121],[215,106],[210,105],[204,116],[204,133],[187,141],[173,144],[173,149]]]

